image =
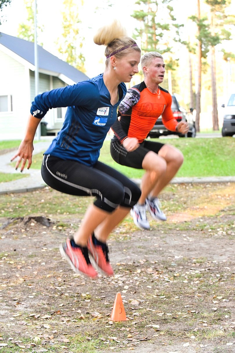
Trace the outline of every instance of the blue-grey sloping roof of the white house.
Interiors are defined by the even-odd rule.
[[[8,34],[0,32],[0,44],[10,49],[12,52],[21,56],[21,58],[34,65],[34,43],[26,41],[21,38],[9,36]],[[80,82],[89,79],[85,73],[77,70],[75,67],[69,65],[67,62],[57,58],[43,49],[38,47],[38,68],[39,71],[47,70],[54,72],[56,75],[63,74],[74,82]]]

